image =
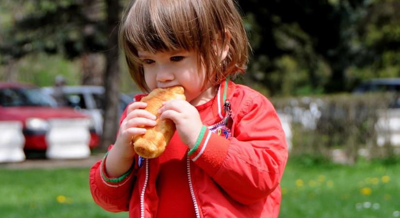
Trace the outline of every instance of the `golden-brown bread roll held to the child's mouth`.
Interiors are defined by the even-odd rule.
[[[141,101],[147,103],[145,110],[157,116],[157,125],[154,127],[144,126],[147,129],[146,133],[133,137],[133,147],[139,156],[154,158],[164,152],[165,147],[175,133],[176,127],[170,119],[160,120],[160,114],[157,111],[162,107],[162,102],[173,99],[186,99],[182,86],[154,89],[142,98]]]

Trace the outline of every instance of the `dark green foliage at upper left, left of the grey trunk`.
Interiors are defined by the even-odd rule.
[[[3,63],[32,52],[74,58],[84,52],[106,50],[109,33],[105,30],[105,8],[97,0],[7,1],[0,8],[8,17],[4,22],[8,28],[0,37]]]

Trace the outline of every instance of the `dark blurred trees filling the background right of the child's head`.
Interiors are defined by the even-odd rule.
[[[239,0],[253,54],[247,83],[271,95],[349,91],[399,77],[399,1]]]

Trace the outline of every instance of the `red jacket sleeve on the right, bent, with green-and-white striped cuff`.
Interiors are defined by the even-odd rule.
[[[256,94],[242,104],[235,116],[233,137],[225,139],[206,128],[189,157],[234,200],[251,204],[279,185],[288,150],[271,102]]]

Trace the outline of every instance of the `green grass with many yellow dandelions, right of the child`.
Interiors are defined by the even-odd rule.
[[[400,164],[354,166],[289,162],[280,218],[399,217]]]

